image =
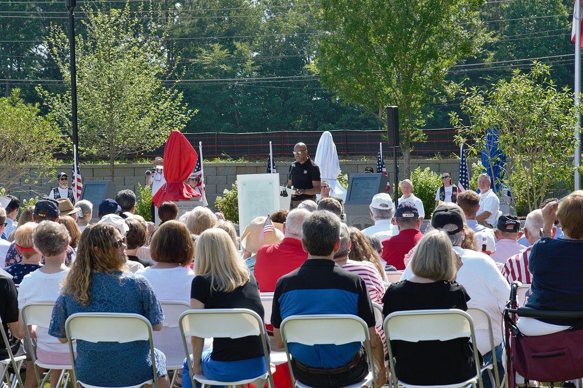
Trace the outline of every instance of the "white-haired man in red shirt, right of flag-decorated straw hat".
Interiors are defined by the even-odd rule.
[[[283,240],[257,251],[253,274],[261,292],[275,291],[279,278],[299,268],[308,258],[301,248],[301,224],[308,216],[310,211],[305,209],[291,210],[283,223]]]

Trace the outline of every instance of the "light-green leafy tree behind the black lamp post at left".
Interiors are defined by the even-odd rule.
[[[107,158],[112,180],[117,158],[156,149],[192,115],[174,87],[178,74],[167,65],[162,44],[167,25],[152,11],[136,13],[127,3],[108,12],[86,9],[82,21],[86,36],[77,45],[79,148],[83,155]],[[51,30],[47,47],[69,84],[69,42],[60,27]],[[69,90],[37,90],[70,133]]]

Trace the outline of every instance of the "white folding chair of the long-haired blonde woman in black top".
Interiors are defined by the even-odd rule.
[[[240,381],[215,381],[206,378],[205,375],[195,375],[192,370],[192,362],[188,362],[188,374],[191,381],[201,383],[202,388],[208,385],[245,385],[255,380],[268,380],[268,387],[275,388],[269,366],[269,349],[265,335],[265,324],[256,312],[250,309],[199,309],[187,310],[179,319],[184,353],[190,360],[186,337],[199,338],[242,338],[247,336],[259,336],[265,357],[267,372],[251,379]]]

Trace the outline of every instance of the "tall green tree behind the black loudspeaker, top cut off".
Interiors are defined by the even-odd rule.
[[[483,0],[323,0],[318,58],[324,86],[384,122],[399,107],[405,175],[410,150],[424,140],[424,108],[451,96],[448,70],[480,52],[488,35]],[[430,113],[429,113],[430,114]]]

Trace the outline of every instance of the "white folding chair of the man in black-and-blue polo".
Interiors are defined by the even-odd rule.
[[[314,345],[343,345],[353,342],[364,343],[368,365],[371,370],[358,383],[343,388],[359,388],[372,386],[377,388],[377,378],[374,371],[373,352],[370,347],[368,326],[360,317],[355,315],[292,315],[283,320],[280,331],[283,345],[286,349],[287,365],[290,369],[291,380],[298,388],[311,388],[294,377],[291,366],[291,355],[288,343],[298,343],[308,346]]]

